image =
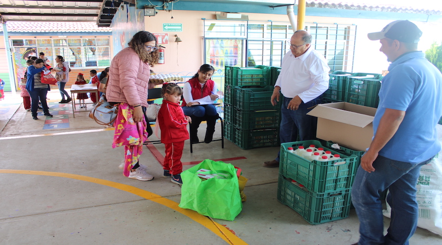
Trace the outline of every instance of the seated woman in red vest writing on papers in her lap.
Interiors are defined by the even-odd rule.
[[[215,124],[218,119],[217,109],[213,101],[218,98],[217,85],[210,80],[215,69],[213,66],[204,64],[198,72],[184,84],[183,88],[183,111],[184,115],[192,117],[190,138],[192,143],[198,143],[198,127],[201,121],[207,121],[205,143],[210,143],[215,132]]]

